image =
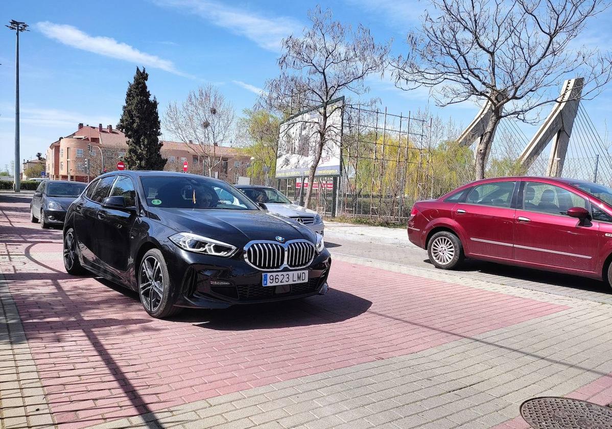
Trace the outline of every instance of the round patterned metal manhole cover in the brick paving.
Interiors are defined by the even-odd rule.
[[[570,398],[533,398],[521,416],[535,429],[612,429],[612,409]]]

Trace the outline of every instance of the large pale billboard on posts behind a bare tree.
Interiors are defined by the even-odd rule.
[[[340,176],[340,141],[344,97],[332,100],[327,118],[327,143],[315,176]],[[276,178],[308,176],[315,163],[321,106],[298,113],[280,124],[276,158]]]

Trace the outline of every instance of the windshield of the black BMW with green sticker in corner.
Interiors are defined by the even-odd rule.
[[[194,177],[144,176],[144,196],[151,207],[172,209],[257,210],[248,198],[225,182]]]

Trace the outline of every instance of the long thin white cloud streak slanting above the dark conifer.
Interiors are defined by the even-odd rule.
[[[118,42],[111,37],[92,36],[72,25],[54,24],[49,21],[37,23],[36,28],[49,39],[57,40],[73,48],[153,67],[154,69],[162,69],[179,76],[190,77],[179,72],[172,61],[141,52],[127,45],[127,43]]]

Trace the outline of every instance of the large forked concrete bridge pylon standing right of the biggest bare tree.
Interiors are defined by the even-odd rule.
[[[584,78],[568,79],[563,83],[561,95],[554,103],[546,121],[540,125],[540,128],[519,157],[522,166],[531,167],[535,159],[542,154],[542,151],[554,138],[546,174],[552,177],[561,176],[565,155],[567,155],[567,146],[570,135],[572,135],[573,122],[580,105],[583,84]]]

